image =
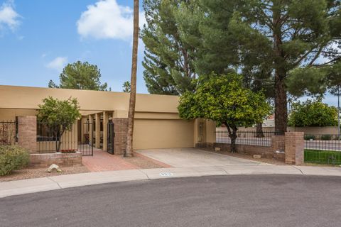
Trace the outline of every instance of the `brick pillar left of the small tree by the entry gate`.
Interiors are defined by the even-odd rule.
[[[18,116],[18,145],[30,153],[37,151],[37,117]]]

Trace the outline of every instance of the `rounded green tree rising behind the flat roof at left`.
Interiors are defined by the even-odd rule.
[[[64,88],[64,89],[84,89],[95,91],[107,91],[108,84],[101,84],[101,71],[96,65],[89,62],[77,61],[64,67],[60,74],[60,85],[55,84],[52,80],[48,83],[48,87]],[[109,88],[109,90],[111,90]]]

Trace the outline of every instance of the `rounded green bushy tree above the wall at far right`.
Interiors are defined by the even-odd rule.
[[[321,99],[296,102],[288,116],[288,126],[337,126],[337,109],[323,104]]]

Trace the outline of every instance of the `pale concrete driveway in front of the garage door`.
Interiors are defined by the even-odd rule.
[[[269,165],[264,162],[256,162],[238,157],[220,155],[197,148],[151,149],[137,150],[136,152],[173,167]]]

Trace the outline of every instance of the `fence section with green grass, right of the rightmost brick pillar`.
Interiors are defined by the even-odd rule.
[[[341,164],[340,135],[305,134],[304,146],[305,162],[329,165]]]

